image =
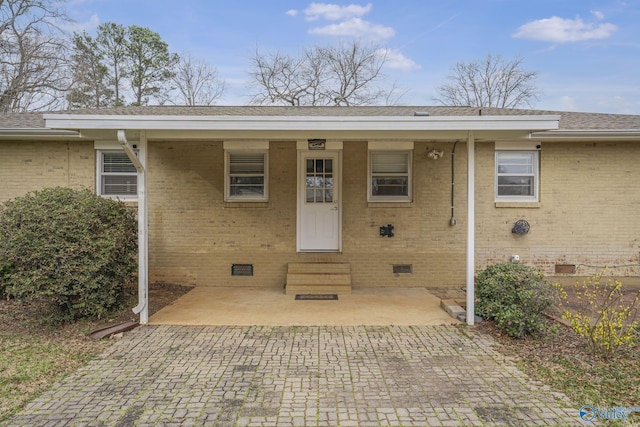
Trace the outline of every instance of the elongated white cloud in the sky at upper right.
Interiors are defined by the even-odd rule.
[[[555,43],[605,39],[617,30],[613,24],[586,23],[580,17],[563,19],[553,16],[524,24],[513,37]]]

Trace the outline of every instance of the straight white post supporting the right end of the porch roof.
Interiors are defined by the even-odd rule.
[[[475,320],[475,137],[473,131],[467,138],[467,324]]]

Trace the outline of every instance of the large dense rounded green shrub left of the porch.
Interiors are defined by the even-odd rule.
[[[137,267],[134,213],[89,190],[49,188],[0,206],[0,281],[68,319],[119,307]]]

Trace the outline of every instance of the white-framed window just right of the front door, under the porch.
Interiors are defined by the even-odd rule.
[[[411,151],[369,152],[369,201],[411,201]]]

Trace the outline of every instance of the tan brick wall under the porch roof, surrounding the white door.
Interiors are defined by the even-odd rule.
[[[284,285],[288,262],[351,262],[354,286],[447,286],[464,281],[464,228],[450,227],[450,157],[414,155],[414,203],[367,203],[367,143],[343,151],[343,253],[296,254],[297,151],[270,143],[268,203],[225,203],[221,142],[149,144],[150,274],[154,280],[203,286]],[[451,144],[440,144],[451,151]],[[459,154],[458,162],[465,162]],[[156,171],[162,170],[162,173]],[[464,168],[459,168],[463,171]],[[462,182],[464,175],[458,174]],[[456,203],[464,212],[465,196]],[[396,237],[381,238],[392,223]],[[231,265],[253,264],[253,277]],[[413,274],[394,275],[393,264]]]

